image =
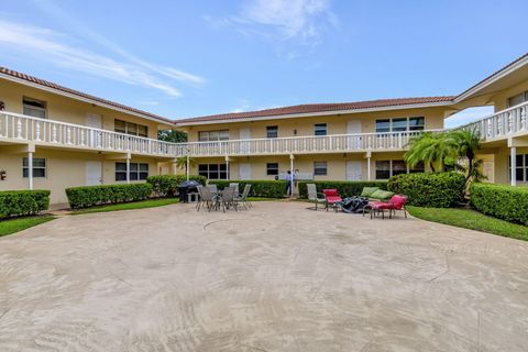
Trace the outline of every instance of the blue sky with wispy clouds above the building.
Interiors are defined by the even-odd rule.
[[[0,66],[169,119],[458,95],[527,52],[526,13],[526,0],[3,0]]]

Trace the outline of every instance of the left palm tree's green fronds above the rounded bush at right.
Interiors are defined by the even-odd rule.
[[[453,156],[451,140],[444,133],[425,132],[409,140],[405,162],[414,167],[424,162],[432,172],[446,168],[446,161]]]

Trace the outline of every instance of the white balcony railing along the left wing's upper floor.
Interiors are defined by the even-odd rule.
[[[0,111],[0,140],[160,156],[186,153],[180,144],[6,111]]]

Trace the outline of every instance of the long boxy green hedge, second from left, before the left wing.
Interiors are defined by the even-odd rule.
[[[86,186],[67,188],[66,196],[72,209],[80,209],[147,199],[152,190],[151,184]]]

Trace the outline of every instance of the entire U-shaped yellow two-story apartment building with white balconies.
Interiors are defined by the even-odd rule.
[[[468,107],[495,113],[465,129],[481,134],[490,182],[528,183],[528,54],[458,96],[314,103],[172,121],[0,68],[0,190],[45,188],[66,201],[72,186],[143,182],[176,173],[209,179],[374,180],[421,172],[404,162],[409,138],[442,131]],[[188,143],[157,140],[160,129]]]

